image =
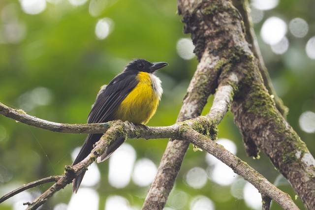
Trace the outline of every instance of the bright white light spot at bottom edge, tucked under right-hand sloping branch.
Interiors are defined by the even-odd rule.
[[[261,195],[259,191],[249,182],[244,186],[244,200],[247,206],[255,210],[261,210]]]

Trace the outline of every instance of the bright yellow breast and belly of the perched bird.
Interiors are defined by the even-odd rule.
[[[161,92],[154,88],[156,84],[152,83],[155,81],[152,81],[152,75],[147,72],[139,72],[136,80],[139,83],[122,101],[115,112],[115,118],[146,124],[156,113]],[[160,81],[158,85],[161,90]]]

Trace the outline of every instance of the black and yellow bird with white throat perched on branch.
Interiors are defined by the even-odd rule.
[[[88,116],[88,123],[100,123],[111,120],[129,121],[134,124],[146,124],[156,113],[163,89],[161,80],[155,72],[168,65],[167,62],[149,62],[144,59],[130,61],[122,73],[97,93],[95,103]],[[81,162],[93,150],[94,144],[103,134],[89,134],[72,165]],[[125,142],[119,137],[110,143],[97,162],[106,160]],[[79,189],[85,171],[73,180],[72,191]]]

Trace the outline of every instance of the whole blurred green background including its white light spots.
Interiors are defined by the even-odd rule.
[[[287,120],[315,155],[315,2],[252,0],[252,19]],[[183,34],[175,0],[1,0],[0,101],[41,119],[85,123],[99,87],[133,58],[166,61],[157,75],[164,94],[148,123],[176,121],[197,61]],[[213,97],[205,107],[209,111]],[[252,165],[303,204],[269,159],[246,156],[229,112],[218,143]],[[59,175],[72,163],[84,134],[53,133],[0,116],[0,196],[16,187]],[[42,209],[137,210],[159,160],[163,140],[128,140],[101,164],[93,164],[77,194],[65,187]],[[23,202],[50,184],[20,193],[0,210]],[[189,148],[165,210],[260,209],[251,184],[205,152]],[[272,209],[281,209],[272,203]]]

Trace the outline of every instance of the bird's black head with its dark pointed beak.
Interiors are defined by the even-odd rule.
[[[151,63],[148,60],[135,59],[128,63],[125,67],[125,71],[136,70],[136,71],[145,71],[148,73],[153,73],[156,70],[163,68],[165,65],[168,65],[167,62],[154,62]]]

